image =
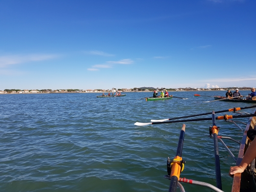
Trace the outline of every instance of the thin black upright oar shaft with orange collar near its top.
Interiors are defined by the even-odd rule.
[[[214,140],[214,156],[215,156],[215,175],[216,175],[216,183],[218,189],[222,189],[221,184],[221,165],[220,165],[220,156],[218,151],[218,131],[216,127],[216,118],[215,113],[212,111],[212,130],[215,129],[213,133],[213,140]]]

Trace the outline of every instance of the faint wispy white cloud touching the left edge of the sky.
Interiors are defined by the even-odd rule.
[[[21,64],[32,61],[44,61],[57,58],[59,55],[53,54],[31,54],[31,55],[6,55],[0,56],[0,67],[6,67],[12,64]]]

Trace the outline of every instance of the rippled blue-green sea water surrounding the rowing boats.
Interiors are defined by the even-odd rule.
[[[152,93],[126,93],[116,98],[96,98],[95,93],[0,95],[1,191],[168,191],[169,180],[163,178],[166,159],[175,157],[182,123],[143,127],[134,123],[252,105],[203,103],[213,98],[194,97],[224,96],[225,91],[169,93],[189,99],[137,100]],[[211,121],[186,123],[182,154],[186,164],[181,177],[215,185],[209,125]],[[243,133],[235,125],[221,120],[217,125],[220,135],[241,140]],[[237,155],[239,146],[225,143]],[[221,143],[219,148],[223,190],[230,191],[228,170],[235,162]],[[188,192],[211,191],[183,186]]]

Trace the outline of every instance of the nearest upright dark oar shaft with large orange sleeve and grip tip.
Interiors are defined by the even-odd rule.
[[[176,157],[174,163],[172,164],[172,172],[171,172],[171,182],[169,186],[169,192],[176,192],[177,185],[178,185],[178,179],[180,177],[181,172],[181,163],[178,161],[182,160],[182,148],[183,148],[183,142],[184,142],[184,136],[185,136],[185,127],[186,125],[183,124],[181,131],[180,131],[180,138],[179,143],[176,151]]]

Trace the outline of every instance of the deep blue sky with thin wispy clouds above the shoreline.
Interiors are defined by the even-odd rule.
[[[255,0],[1,0],[0,90],[255,87]]]

